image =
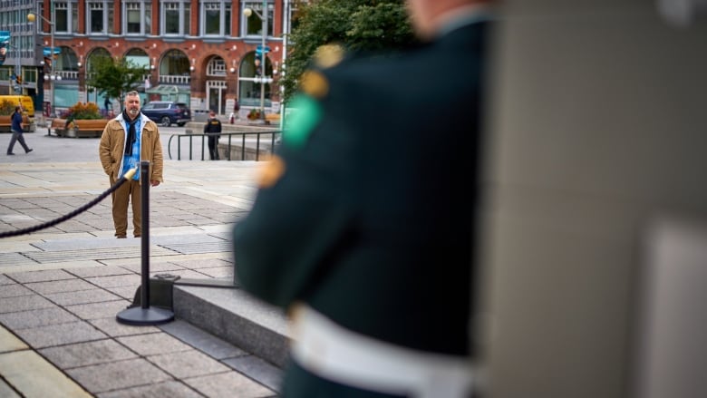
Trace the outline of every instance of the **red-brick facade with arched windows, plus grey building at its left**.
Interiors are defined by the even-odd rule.
[[[92,59],[108,55],[145,69],[139,88],[145,102],[187,102],[193,111],[228,114],[237,99],[245,108],[276,112],[293,3],[0,1],[0,31],[11,34],[0,93],[32,96],[46,116],[76,102],[102,107],[105,99],[86,77]],[[110,101],[119,108],[117,99]]]

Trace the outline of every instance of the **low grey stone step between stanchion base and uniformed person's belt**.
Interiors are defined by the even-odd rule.
[[[283,368],[290,338],[284,312],[230,281],[221,282],[220,286],[218,282],[194,283],[193,279],[175,282],[175,317]]]

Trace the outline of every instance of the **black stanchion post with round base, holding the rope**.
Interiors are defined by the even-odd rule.
[[[140,306],[122,310],[116,319],[127,325],[160,325],[174,320],[174,313],[150,306],[150,162],[140,161],[140,206],[142,214],[142,267]]]

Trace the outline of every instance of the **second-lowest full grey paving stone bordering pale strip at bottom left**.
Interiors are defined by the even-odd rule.
[[[126,346],[111,339],[49,347],[39,350],[39,352],[62,369],[105,364],[138,356]]]

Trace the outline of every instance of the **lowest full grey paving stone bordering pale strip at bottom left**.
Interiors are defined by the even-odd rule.
[[[82,366],[65,372],[92,393],[172,380],[169,374],[143,358]]]

